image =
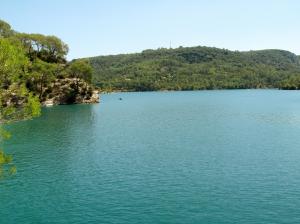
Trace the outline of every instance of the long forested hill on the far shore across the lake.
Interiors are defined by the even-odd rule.
[[[89,60],[94,83],[106,91],[300,89],[300,58],[284,50],[179,47]]]

